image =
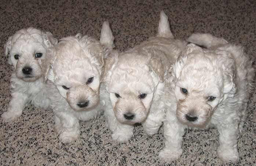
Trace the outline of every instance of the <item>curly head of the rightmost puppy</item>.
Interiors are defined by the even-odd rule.
[[[187,45],[173,66],[178,120],[204,128],[219,103],[236,92],[234,71],[228,52]]]

